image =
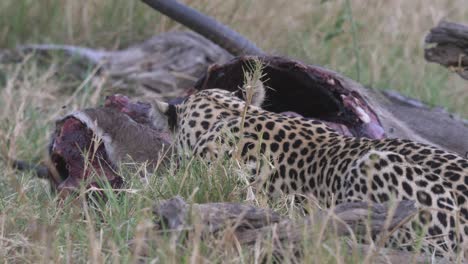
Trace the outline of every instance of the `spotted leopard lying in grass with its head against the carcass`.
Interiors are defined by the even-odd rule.
[[[387,246],[468,258],[468,160],[409,139],[345,136],[324,122],[262,109],[265,87],[250,100],[205,89],[180,104],[156,101],[152,114],[172,131],[180,155],[236,158],[271,197],[308,195],[325,207],[355,201],[412,200],[418,212]],[[421,249],[420,249],[421,250]]]

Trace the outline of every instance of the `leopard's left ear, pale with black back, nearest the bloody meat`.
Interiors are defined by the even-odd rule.
[[[176,106],[163,101],[154,101],[153,109],[150,113],[153,126],[160,130],[175,130],[177,124]]]

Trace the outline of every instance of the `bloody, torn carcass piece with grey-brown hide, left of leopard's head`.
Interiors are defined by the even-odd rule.
[[[152,122],[150,104],[110,96],[104,107],[79,110],[57,121],[49,146],[53,166],[49,177],[64,194],[83,183],[96,187],[102,180],[120,188],[117,168],[121,163],[155,168],[169,155],[170,141]]]

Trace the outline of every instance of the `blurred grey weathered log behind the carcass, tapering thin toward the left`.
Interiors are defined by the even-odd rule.
[[[192,32],[168,32],[142,43],[116,51],[55,44],[19,46],[16,52],[0,52],[3,62],[35,51],[63,51],[101,67],[109,85],[116,91],[137,97],[175,98],[185,94],[213,63],[224,63],[232,56],[218,45]],[[12,54],[17,56],[13,56]],[[6,61],[5,61],[6,60]],[[1,62],[1,61],[0,61]],[[85,69],[83,69],[85,71]]]

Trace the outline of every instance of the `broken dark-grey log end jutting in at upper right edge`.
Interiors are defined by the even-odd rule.
[[[468,80],[468,26],[441,21],[425,39],[424,57],[439,63]],[[435,46],[434,46],[435,45]]]

